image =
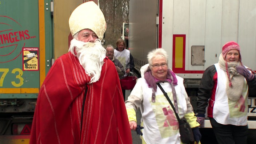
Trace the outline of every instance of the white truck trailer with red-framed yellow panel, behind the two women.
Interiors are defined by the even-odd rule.
[[[149,51],[165,49],[168,66],[184,78],[194,109],[203,72],[218,62],[226,42],[236,41],[243,64],[256,70],[255,0],[130,0],[129,8],[129,49],[135,69],[147,63]],[[248,105],[248,137],[255,139],[255,98],[249,98]],[[205,127],[211,129],[209,120]]]

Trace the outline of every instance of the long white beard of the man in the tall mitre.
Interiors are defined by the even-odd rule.
[[[106,50],[102,47],[101,41],[96,39],[94,43],[71,40],[69,50],[75,55],[85,69],[85,73],[91,77],[89,83],[100,79],[101,67],[106,56]]]

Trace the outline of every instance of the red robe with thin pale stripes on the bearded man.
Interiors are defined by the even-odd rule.
[[[39,91],[30,144],[132,144],[113,62],[105,58],[99,81],[90,79],[71,52],[55,61]]]

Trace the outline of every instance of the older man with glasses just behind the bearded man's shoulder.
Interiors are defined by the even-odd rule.
[[[123,67],[123,65],[120,63],[120,61],[118,59],[115,59],[114,47],[109,44],[106,47],[106,51],[107,51],[106,56],[108,57],[108,59],[113,61],[113,63],[116,66],[116,71],[118,73],[119,78],[122,77],[125,74],[124,67]]]

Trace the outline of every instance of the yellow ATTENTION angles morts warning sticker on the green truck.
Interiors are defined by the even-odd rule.
[[[38,71],[38,48],[23,48],[23,71]]]

